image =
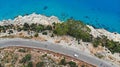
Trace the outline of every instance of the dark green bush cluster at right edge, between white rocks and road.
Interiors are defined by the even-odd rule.
[[[120,43],[115,42],[113,40],[109,40],[109,39],[107,39],[106,36],[94,38],[92,43],[93,43],[94,47],[101,45],[103,47],[105,46],[106,48],[108,48],[112,53],[116,53],[116,52],[120,53]]]

